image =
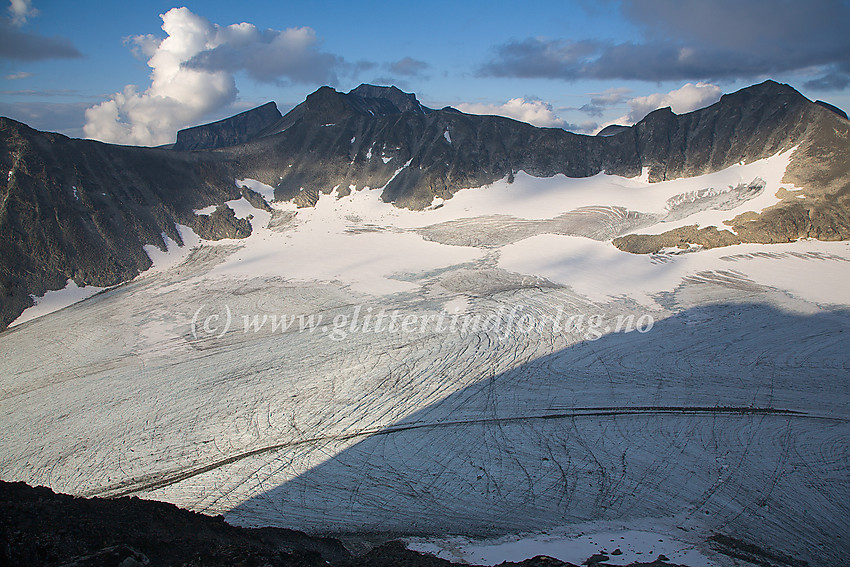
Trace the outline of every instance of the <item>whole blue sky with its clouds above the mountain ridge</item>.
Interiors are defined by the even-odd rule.
[[[766,78],[850,107],[842,0],[14,0],[2,18],[0,114],[119,143],[361,82],[585,133]]]

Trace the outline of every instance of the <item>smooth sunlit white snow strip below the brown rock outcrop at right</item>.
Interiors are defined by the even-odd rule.
[[[785,290],[812,303],[847,305],[850,245],[803,240],[764,246],[741,244],[690,254],[629,254],[610,243],[545,234],[502,249],[499,266],[543,276],[594,301],[630,296],[641,302],[673,291],[686,278],[717,273]],[[801,274],[816,271],[809,280]]]

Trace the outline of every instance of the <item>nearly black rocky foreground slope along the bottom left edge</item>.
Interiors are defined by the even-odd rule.
[[[607,556],[588,564],[605,567]],[[336,539],[281,528],[231,526],[173,504],[56,494],[0,481],[0,567],[451,567],[388,542],[354,556]],[[523,567],[575,567],[539,556]],[[663,558],[631,567],[676,567]]]

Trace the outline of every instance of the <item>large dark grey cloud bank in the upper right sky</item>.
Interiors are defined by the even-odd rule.
[[[638,27],[642,41],[511,41],[497,46],[480,74],[669,81],[814,70],[823,74],[824,86],[850,84],[846,1],[623,0],[620,9]]]

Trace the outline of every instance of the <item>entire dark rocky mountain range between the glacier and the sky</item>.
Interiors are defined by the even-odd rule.
[[[603,134],[603,133],[601,133]],[[31,295],[78,285],[112,286],[150,267],[145,245],[181,242],[175,225],[202,238],[240,238],[252,227],[220,206],[246,196],[235,179],[274,187],[275,199],[312,206],[321,193],[383,188],[399,207],[425,209],[435,198],[520,171],[588,177],[600,172],[663,181],[718,171],[796,148],[789,193],[760,215],[731,221],[737,234],[679,228],[625,235],[623,250],[705,247],[799,238],[850,238],[850,122],[788,85],[766,81],[683,115],[652,112],[631,127],[585,136],[453,108],[430,109],[395,87],[322,87],[281,116],[274,103],[182,130],[172,148],[70,139],[0,118],[0,329]]]

